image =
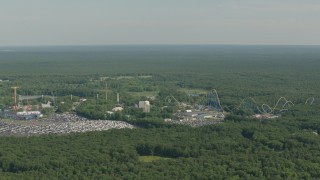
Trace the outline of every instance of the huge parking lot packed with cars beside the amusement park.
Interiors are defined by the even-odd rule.
[[[122,121],[88,120],[73,114],[54,114],[40,120],[1,120],[0,135],[43,135],[134,128]]]

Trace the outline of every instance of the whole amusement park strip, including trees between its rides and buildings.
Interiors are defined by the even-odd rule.
[[[141,113],[143,113],[143,117],[162,118],[165,123],[202,126],[220,123],[228,115],[241,115],[252,119],[275,119],[281,117],[290,107],[295,105],[285,97],[280,97],[274,105],[266,103],[259,105],[254,98],[249,97],[243,99],[239,105],[224,106],[216,89],[199,93],[177,91],[176,93],[178,94],[170,94],[169,92],[167,96],[145,96],[145,98],[136,101],[136,103],[129,104],[127,98],[120,101],[118,90],[112,91],[110,95],[110,89],[107,89],[106,84],[103,90],[105,94],[100,96],[97,94],[96,97],[91,98],[91,101],[90,99],[88,101],[97,105],[107,102],[111,106],[104,106],[102,109],[97,106],[93,113],[100,113],[102,116],[91,118],[91,116],[87,117],[86,114],[78,110],[78,107],[82,107],[82,111],[87,111],[86,107],[90,108],[90,106],[86,106],[88,104],[87,98],[75,98],[71,94],[69,101],[72,102],[70,104],[72,107],[62,112],[59,111],[59,106],[63,106],[64,101],[60,100],[58,102],[57,96],[53,95],[53,93],[51,95],[23,95],[18,94],[19,87],[13,86],[11,89],[13,106],[3,108],[0,111],[1,119],[41,121],[45,118],[50,118],[50,114],[71,113],[79,116],[80,119],[84,115],[83,118],[96,120],[114,120],[113,118],[116,116],[120,117],[117,120],[128,120],[141,118]],[[181,98],[183,96],[188,97]],[[33,103],[30,103],[30,101],[33,101]],[[305,104],[312,105],[314,101],[314,98],[309,98],[305,101]],[[48,112],[50,113],[48,114]]]

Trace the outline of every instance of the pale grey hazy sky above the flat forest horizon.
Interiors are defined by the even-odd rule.
[[[1,0],[0,46],[317,44],[320,0]]]

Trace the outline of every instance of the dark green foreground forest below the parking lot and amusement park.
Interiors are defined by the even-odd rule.
[[[309,179],[320,176],[317,132],[317,119],[290,114],[264,121],[229,117],[199,128],[2,137],[0,167],[2,177],[15,179]],[[163,159],[144,162],[143,156]]]

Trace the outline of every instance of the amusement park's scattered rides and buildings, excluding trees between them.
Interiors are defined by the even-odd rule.
[[[54,95],[20,95],[17,94],[17,89],[19,87],[12,87],[13,93],[13,106],[3,109],[1,111],[2,118],[16,119],[16,120],[32,120],[39,119],[43,117],[42,111],[45,109],[50,109],[51,111],[57,110],[59,103],[57,103],[57,96]],[[107,90],[106,90],[107,99]],[[168,118],[165,118],[165,122],[190,122],[190,121],[221,121],[228,114],[243,114],[246,116],[251,116],[256,119],[273,119],[284,114],[290,107],[294,106],[294,103],[285,97],[280,97],[275,105],[262,104],[258,105],[254,98],[249,97],[243,99],[238,106],[223,106],[219,98],[218,91],[212,89],[205,94],[188,94],[189,99],[193,99],[192,102],[184,102],[179,100],[173,95],[168,95],[164,99],[159,99],[158,101],[163,101],[164,106],[158,107],[162,110],[166,108],[172,108],[173,112]],[[97,99],[99,96],[97,95]],[[153,97],[154,98],[154,97]],[[40,99],[42,103],[36,105],[30,105],[29,101]],[[124,109],[130,109],[133,107],[126,106],[120,103],[120,94],[116,93],[117,102],[115,103],[112,111],[108,110],[109,114],[115,111],[124,111]],[[154,98],[155,99],[155,98]],[[72,100],[72,95],[71,95]],[[81,98],[78,102],[74,102],[74,105],[79,105],[83,103],[86,99]],[[312,105],[315,101],[314,98],[309,98],[306,100],[305,104]],[[63,102],[62,102],[63,103]],[[143,109],[143,112],[150,113],[150,110],[157,108],[153,100],[139,101],[134,107]],[[73,107],[75,109],[75,107]],[[245,114],[242,112],[246,112]],[[130,114],[132,116],[133,114]]]

